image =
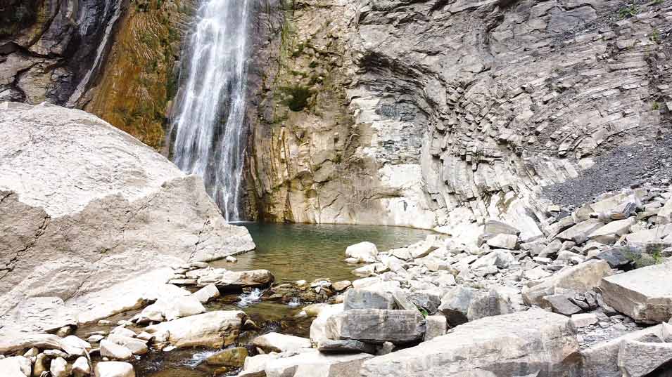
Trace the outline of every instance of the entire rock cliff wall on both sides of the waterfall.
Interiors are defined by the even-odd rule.
[[[168,153],[197,1],[14,3],[1,100],[82,107]],[[590,194],[581,171],[667,130],[671,5],[255,2],[247,217],[454,235],[497,218],[535,239],[543,187]]]

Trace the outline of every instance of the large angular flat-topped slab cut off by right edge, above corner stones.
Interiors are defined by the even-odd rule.
[[[607,305],[637,322],[666,322],[672,317],[672,262],[604,277]]]

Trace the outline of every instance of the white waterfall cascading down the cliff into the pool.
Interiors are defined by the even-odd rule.
[[[203,177],[227,220],[240,220],[247,38],[248,0],[203,0],[172,121],[173,161]]]

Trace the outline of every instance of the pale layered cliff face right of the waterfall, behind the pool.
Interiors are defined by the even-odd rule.
[[[251,142],[258,208],[540,237],[541,187],[668,126],[669,6],[297,1]]]

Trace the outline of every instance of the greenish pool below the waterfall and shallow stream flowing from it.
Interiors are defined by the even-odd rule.
[[[296,280],[312,282],[328,278],[332,282],[355,280],[351,273],[356,267],[343,262],[345,248],[357,242],[369,241],[379,251],[407,246],[424,239],[429,230],[379,225],[307,225],[239,223],[250,231],[257,249],[236,256],[237,263],[224,260],[210,262],[213,267],[229,270],[270,270],[276,284]],[[294,336],[310,336],[312,317],[297,317],[304,306],[292,307],[283,303],[261,300],[262,291],[227,294],[205,304],[212,310],[243,310],[260,326],[258,331],[242,331],[233,346],[250,346],[253,338],[263,333],[278,332]],[[128,319],[136,312],[125,312],[110,318],[116,322]],[[110,331],[115,325],[90,324],[77,329],[77,336],[86,339],[92,331]],[[130,327],[134,329],[133,327]],[[138,328],[139,329],[139,328]],[[234,376],[238,370],[221,369],[205,364],[205,359],[220,350],[208,348],[181,348],[170,352],[150,350],[133,362],[137,377],[220,377]],[[253,353],[251,355],[254,355]]]

